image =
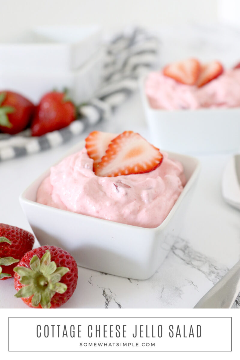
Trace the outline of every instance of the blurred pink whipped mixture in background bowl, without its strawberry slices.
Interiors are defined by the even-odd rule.
[[[208,84],[184,85],[151,72],[145,82],[150,106],[154,109],[232,108],[240,106],[240,69],[223,72]]]

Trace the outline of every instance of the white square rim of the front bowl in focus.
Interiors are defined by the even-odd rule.
[[[166,225],[168,224],[168,222],[171,220],[171,218],[173,217],[173,215],[176,212],[177,208],[180,206],[180,203],[184,199],[185,195],[190,190],[191,186],[194,184],[194,181],[196,180],[196,178],[197,178],[197,176],[198,176],[198,174],[200,172],[200,168],[201,168],[200,161],[196,157],[189,156],[189,155],[186,155],[186,154],[180,154],[180,153],[174,153],[174,152],[162,150],[163,152],[167,152],[169,154],[169,158],[174,158],[174,156],[184,157],[185,159],[189,159],[191,161],[194,161],[196,165],[195,165],[195,170],[193,171],[193,173],[189,177],[189,180],[187,181],[186,185],[184,186],[184,189],[182,190],[181,194],[177,198],[177,201],[175,202],[175,204],[173,205],[173,207],[169,211],[168,215],[163,220],[163,222],[160,225],[158,225],[157,227],[155,227],[155,228],[145,228],[143,226],[136,226],[136,225],[124,224],[122,222],[112,221],[112,220],[108,220],[108,219],[101,219],[101,218],[94,217],[94,216],[91,216],[91,215],[83,215],[83,214],[72,212],[72,211],[69,211],[69,210],[63,210],[63,209],[55,208],[55,207],[52,207],[52,206],[49,206],[49,205],[40,204],[40,203],[37,203],[36,201],[32,201],[32,200],[29,200],[29,199],[26,198],[26,193],[32,188],[32,186],[35,186],[35,183],[39,182],[40,179],[43,180],[43,179],[45,179],[46,176],[49,175],[50,168],[52,166],[57,165],[65,157],[80,151],[84,147],[85,147],[85,141],[84,140],[80,141],[78,144],[74,145],[71,149],[69,149],[68,152],[65,153],[64,156],[62,156],[58,161],[56,161],[53,165],[51,165],[49,168],[47,168],[47,170],[45,170],[41,175],[39,175],[34,181],[32,181],[32,183],[30,185],[28,185],[27,188],[25,190],[23,190],[23,192],[19,195],[19,202],[21,203],[21,205],[22,205],[22,203],[27,203],[28,205],[35,206],[35,207],[40,207],[42,209],[50,208],[51,211],[56,211],[57,213],[58,212],[64,212],[64,213],[67,212],[68,214],[72,214],[72,215],[69,215],[69,216],[77,216],[77,217],[80,216],[80,217],[83,217],[83,219],[84,218],[86,219],[86,217],[87,217],[88,219],[91,218],[91,219],[93,219],[92,221],[96,221],[96,222],[99,222],[99,223],[108,221],[110,223],[116,224],[116,226],[125,227],[125,228],[128,228],[129,230],[132,229],[132,228],[137,228],[137,229],[142,229],[141,231],[156,232],[156,231],[164,229],[166,227]]]

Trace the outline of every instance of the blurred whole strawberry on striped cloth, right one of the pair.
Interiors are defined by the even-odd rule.
[[[74,104],[66,99],[65,93],[45,94],[37,106],[31,124],[32,136],[41,136],[46,132],[62,129],[76,119]]]

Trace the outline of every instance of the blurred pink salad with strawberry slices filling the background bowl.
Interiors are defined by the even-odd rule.
[[[145,82],[154,109],[178,110],[240,106],[240,64],[225,70],[218,61],[190,58],[151,72]]]

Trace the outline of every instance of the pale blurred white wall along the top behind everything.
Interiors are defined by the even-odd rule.
[[[104,30],[129,24],[239,23],[238,0],[0,0],[0,41],[37,25],[98,23]],[[237,11],[238,10],[238,11]]]

